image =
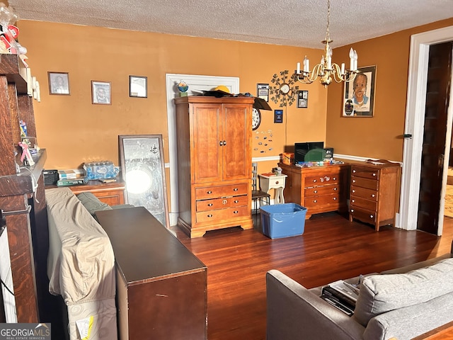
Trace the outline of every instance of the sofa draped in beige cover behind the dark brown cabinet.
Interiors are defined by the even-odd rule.
[[[112,207],[92,193],[76,196],[69,188],[46,189],[45,198],[49,292],[61,295],[66,305],[65,339],[117,339],[115,257],[110,239],[93,217],[95,211]]]

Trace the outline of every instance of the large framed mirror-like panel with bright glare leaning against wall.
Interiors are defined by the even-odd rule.
[[[162,135],[120,135],[118,144],[127,203],[147,208],[170,228]]]

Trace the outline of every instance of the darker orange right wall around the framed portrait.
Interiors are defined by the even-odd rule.
[[[326,142],[336,153],[403,160],[411,35],[452,25],[453,18],[333,51],[333,60],[348,60],[353,47],[359,55],[359,67],[377,66],[373,118],[341,117],[343,84],[329,86]]]

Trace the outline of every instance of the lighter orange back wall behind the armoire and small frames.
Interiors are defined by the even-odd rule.
[[[294,72],[305,54],[312,60],[321,54],[297,47],[38,21],[18,21],[18,27],[32,74],[40,82],[35,116],[39,145],[47,149],[47,169],[76,168],[100,159],[117,164],[117,135],[134,134],[162,134],[168,162],[166,73],[239,77],[240,91],[256,95],[257,83],[271,84],[273,74]],[[50,95],[47,72],[69,72],[71,95]],[[148,98],[129,97],[129,75],[148,77]],[[111,81],[111,106],[91,103],[91,80]],[[253,157],[278,156],[285,143],[325,140],[327,91],[302,87],[310,90],[309,108],[288,106],[283,124],[273,123],[273,112],[262,112],[257,132],[273,131],[273,150],[255,151]],[[279,108],[273,102],[270,106]]]

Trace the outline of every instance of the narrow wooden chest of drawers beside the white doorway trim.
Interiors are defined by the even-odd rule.
[[[377,164],[374,164],[377,163]],[[395,225],[401,166],[377,160],[351,164],[349,219],[374,225]]]

